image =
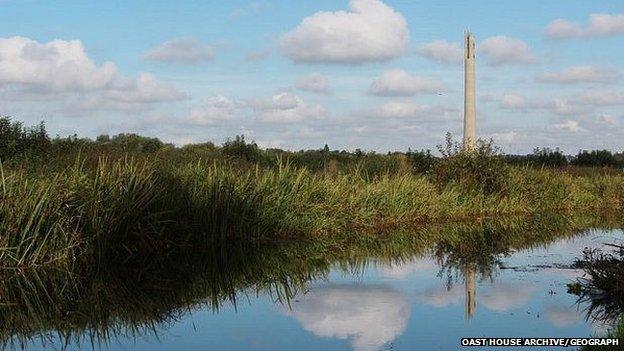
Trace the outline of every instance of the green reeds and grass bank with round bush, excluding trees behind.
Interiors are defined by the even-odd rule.
[[[171,247],[382,233],[423,223],[556,211],[620,210],[621,175],[507,167],[449,155],[435,175],[375,177],[232,162],[77,161],[65,170],[4,167],[0,265],[107,261]]]

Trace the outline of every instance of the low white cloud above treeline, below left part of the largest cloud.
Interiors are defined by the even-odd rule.
[[[292,123],[322,119],[327,110],[321,105],[308,105],[291,92],[273,95],[269,100],[255,100],[249,103],[256,112],[256,118],[266,123]]]

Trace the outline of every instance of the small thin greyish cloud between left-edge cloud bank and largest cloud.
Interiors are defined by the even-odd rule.
[[[198,64],[214,58],[214,47],[192,38],[166,41],[143,54],[143,59],[166,63]]]

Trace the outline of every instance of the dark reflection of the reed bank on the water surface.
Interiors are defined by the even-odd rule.
[[[354,234],[311,242],[181,248],[168,256],[133,256],[102,265],[78,262],[70,271],[6,271],[0,281],[0,339],[11,349],[39,339],[97,345],[158,335],[195,308],[217,311],[256,294],[288,305],[331,267],[359,274],[370,257],[397,264],[429,256],[431,248],[447,270],[462,272],[472,265],[477,272],[491,271],[484,267],[486,261],[495,262],[509,250],[544,245],[600,223],[592,216],[507,219],[427,226],[381,237]],[[478,260],[479,255],[490,259]]]

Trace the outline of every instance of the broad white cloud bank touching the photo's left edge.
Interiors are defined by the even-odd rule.
[[[112,62],[96,65],[79,40],[40,43],[24,37],[0,38],[0,88],[16,99],[73,98],[94,108],[127,109],[186,98],[149,73],[123,76]]]

